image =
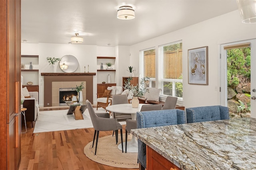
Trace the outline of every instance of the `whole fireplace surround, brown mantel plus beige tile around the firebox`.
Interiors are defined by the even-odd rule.
[[[44,76],[44,107],[59,106],[59,102],[57,104],[55,101],[58,98],[59,88],[66,85],[76,87],[76,84],[80,85],[81,82],[84,82],[83,99],[93,101],[93,76],[96,73],[41,73],[41,75]]]

